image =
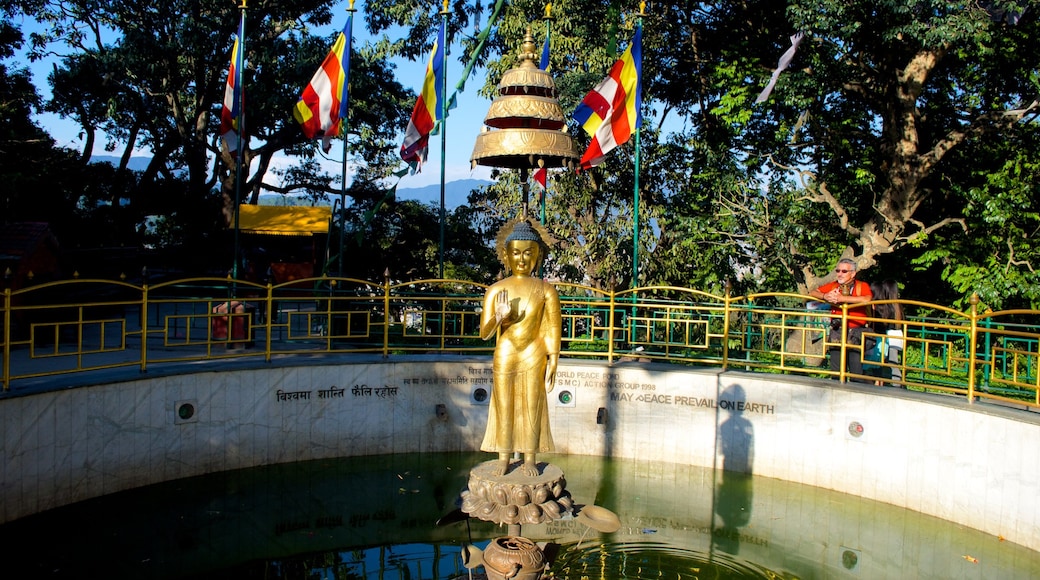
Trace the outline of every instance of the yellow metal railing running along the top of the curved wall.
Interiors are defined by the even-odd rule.
[[[826,367],[864,344],[832,342],[849,314],[790,293],[714,295],[688,288],[605,292],[556,285],[563,354],[638,358],[754,372],[882,381],[935,393],[1040,406],[1040,311],[980,314],[898,300],[900,337],[866,329],[864,344],[895,355],[863,374]],[[120,367],[320,353],[491,353],[478,336],[486,286],[314,278],[280,285],[197,278],[135,286],[72,280],[4,290],[2,387]],[[868,318],[868,322],[880,322]],[[842,333],[841,336],[844,336]],[[898,346],[898,348],[896,348]]]

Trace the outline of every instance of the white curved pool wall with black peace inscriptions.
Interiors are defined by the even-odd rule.
[[[473,450],[489,358],[232,367],[0,400],[0,522],[260,465]],[[1040,550],[1036,414],[891,388],[561,362],[557,453],[743,471],[836,490]],[[570,404],[557,396],[570,391]],[[182,418],[185,403],[196,414]],[[446,414],[439,416],[437,405]],[[604,410],[604,411],[600,411]],[[855,433],[855,434],[854,434]],[[544,457],[551,460],[551,455]]]

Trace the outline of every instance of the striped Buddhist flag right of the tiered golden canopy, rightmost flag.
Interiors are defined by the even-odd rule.
[[[582,169],[602,163],[606,154],[627,142],[643,122],[642,70],[643,26],[638,25],[631,44],[610,74],[574,110],[574,120],[592,136],[581,156]]]

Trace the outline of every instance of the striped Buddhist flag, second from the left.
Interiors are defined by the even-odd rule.
[[[339,135],[340,122],[346,116],[349,98],[350,35],[354,15],[346,19],[332,50],[304,88],[292,116],[308,139],[321,135],[321,149],[329,153],[332,138]]]

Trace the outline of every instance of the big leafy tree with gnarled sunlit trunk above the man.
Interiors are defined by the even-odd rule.
[[[826,278],[815,272],[838,254],[869,269],[896,253],[920,255],[937,235],[977,236],[962,209],[964,193],[982,193],[972,185],[981,176],[961,170],[957,152],[991,150],[997,136],[1023,146],[1040,112],[1040,61],[1026,48],[1038,37],[1036,10],[1011,23],[992,6],[1024,9],[1013,2],[788,2],[787,34],[802,31],[806,41],[773,98],[754,108],[731,85],[728,97],[754,112],[733,107],[720,116],[740,128],[735,143],[749,168],[802,178],[744,208],[748,220],[766,205],[783,208],[756,247],[783,240],[775,257],[800,290]],[[786,36],[776,27],[756,31],[770,33]],[[734,77],[763,64],[742,63]]]

